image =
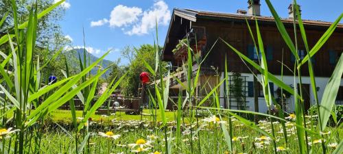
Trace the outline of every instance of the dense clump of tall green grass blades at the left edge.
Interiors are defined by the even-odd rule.
[[[43,79],[44,77],[48,77],[48,74],[45,74],[48,72],[45,66],[51,60],[45,60],[45,63],[41,65],[38,57],[37,62],[34,62],[38,19],[51,12],[51,10],[54,10],[62,2],[64,0],[51,5],[47,10],[43,10],[40,13],[38,13],[37,5],[33,4],[32,10],[29,12],[28,21],[19,23],[16,13],[16,1],[12,0],[14,29],[9,30],[8,34],[2,36],[0,39],[0,43],[3,45],[8,42],[8,49],[10,49],[8,55],[1,52],[5,60],[1,63],[0,67],[0,73],[3,77],[0,88],[5,92],[5,98],[3,99],[6,100],[6,104],[3,104],[1,110],[1,127],[3,128],[2,131],[5,131],[5,133],[1,133],[3,142],[2,153],[40,153],[40,142],[43,136],[43,132],[40,129],[43,129],[43,123],[45,123],[45,120],[51,112],[54,112],[54,110],[57,110],[58,107],[68,101],[71,104],[75,134],[79,133],[81,129],[85,130],[84,136],[82,136],[82,142],[79,142],[78,136],[75,135],[74,151],[80,153],[83,151],[86,145],[85,143],[89,139],[88,129],[84,128],[84,123],[106,101],[109,94],[117,88],[121,79],[125,77],[123,75],[117,82],[113,80],[109,88],[97,99],[94,105],[91,105],[91,100],[95,94],[97,80],[108,68],[99,70],[93,76],[90,75],[90,70],[97,66],[109,51],[93,64],[90,64],[90,62],[87,64],[86,57],[84,57],[84,62],[80,62],[81,71],[76,75],[69,74],[66,63],[67,73],[62,70],[66,76],[65,79],[57,81],[54,84],[49,83],[47,78]],[[56,58],[61,51],[62,49],[56,52],[52,59]],[[46,52],[51,51],[47,49]],[[86,54],[84,55],[86,56]],[[73,105],[73,97],[76,95],[82,100],[85,106],[83,114],[84,120],[79,124],[76,122],[75,107]],[[14,112],[13,116],[8,116],[12,112]],[[12,127],[12,131],[9,127]],[[10,139],[4,137],[6,134],[8,134]],[[7,145],[5,144],[6,140],[9,140]]]

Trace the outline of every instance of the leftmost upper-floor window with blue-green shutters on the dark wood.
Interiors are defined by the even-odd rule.
[[[273,60],[273,48],[272,46],[268,45],[266,47],[264,47],[265,50],[265,58],[267,59],[267,61],[271,61]],[[254,44],[249,44],[248,45],[248,57],[250,58],[250,60],[258,60],[259,57],[261,59],[261,51],[259,52],[259,55],[257,55],[257,49],[255,47]]]

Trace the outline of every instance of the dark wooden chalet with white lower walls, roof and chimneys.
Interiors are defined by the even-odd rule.
[[[281,21],[285,25],[290,38],[294,39],[294,15],[292,7],[293,5],[289,5],[289,17],[281,18]],[[285,7],[285,9],[287,8]],[[178,77],[181,81],[186,81],[187,73],[182,70],[182,65],[187,63],[187,46],[185,46],[184,40],[187,39],[188,36],[189,46],[193,49],[194,73],[198,69],[198,66],[196,65],[196,57],[200,60],[204,60],[201,65],[201,75],[199,84],[197,85],[197,95],[199,97],[204,96],[204,94],[209,92],[209,90],[211,90],[211,88],[213,88],[220,79],[223,79],[226,57],[230,76],[233,75],[233,72],[241,74],[244,92],[244,99],[241,101],[244,102],[239,103],[237,100],[235,101],[235,99],[225,100],[224,86],[221,86],[221,105],[223,107],[228,107],[228,101],[230,101],[231,108],[242,109],[242,104],[244,104],[246,105],[246,110],[254,110],[254,79],[251,73],[254,69],[249,64],[245,64],[234,51],[224,44],[224,42],[218,40],[218,38],[222,38],[235,47],[235,49],[250,57],[250,59],[256,60],[257,49],[255,49],[247,26],[248,23],[256,36],[256,18],[259,23],[263,44],[265,45],[268,70],[270,73],[276,75],[276,77],[281,77],[281,61],[292,69],[294,68],[295,58],[279,33],[274,18],[270,16],[261,16],[259,12],[259,1],[253,1],[253,3],[248,2],[248,11],[238,10],[237,13],[232,14],[175,8],[171,16],[169,29],[165,38],[163,60],[171,62],[174,70],[174,76]],[[316,42],[318,42],[320,37],[332,23],[303,20],[303,24],[307,33],[307,42],[311,48],[314,47]],[[298,55],[300,58],[303,58],[307,53],[299,30],[297,40]],[[338,24],[329,40],[327,40],[320,51],[312,57],[315,68],[314,73],[316,75],[318,86],[317,90],[320,97],[319,99],[322,97],[327,81],[329,80],[329,77],[331,77],[335,64],[337,63],[340,55],[342,55],[342,51],[343,25]],[[302,66],[301,75],[303,76],[305,94],[307,94],[307,96],[305,96],[305,106],[309,108],[311,104],[314,104],[314,96],[311,95],[307,64]],[[230,79],[231,77],[229,77],[229,81]],[[185,94],[185,90],[182,89],[182,86],[180,86],[175,79],[169,80],[171,83],[169,92],[174,92],[175,96],[178,96],[177,94],[180,91],[183,91]],[[285,67],[283,68],[283,81],[285,81],[286,84],[289,84],[289,86],[294,87],[293,73]],[[209,85],[211,86],[204,85],[204,83],[207,82],[210,83]],[[341,81],[340,85],[341,88],[336,101],[338,104],[343,103],[343,81]],[[202,88],[202,86],[206,88]],[[270,86],[275,93],[278,87],[272,83]],[[258,95],[260,105],[259,112],[266,112],[267,108],[263,101],[263,93],[261,94],[261,92],[259,92]],[[294,111],[294,103],[292,103],[293,99],[288,99],[287,101],[287,110]]]

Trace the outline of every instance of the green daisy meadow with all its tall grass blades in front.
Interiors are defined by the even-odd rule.
[[[324,90],[322,100],[318,100],[316,90],[316,113],[305,111],[301,90],[290,88],[282,80],[268,72],[268,65],[263,49],[263,40],[259,33],[258,22],[255,27],[257,35],[249,32],[259,49],[259,61],[254,62],[246,55],[237,51],[228,42],[228,48],[237,53],[244,62],[256,68],[261,73],[259,82],[263,88],[264,99],[268,106],[268,114],[246,110],[224,109],[219,105],[218,88],[227,80],[227,68],[224,79],[218,81],[212,90],[201,100],[196,97],[196,86],[200,68],[193,75],[193,51],[189,42],[184,43],[188,48],[185,72],[186,84],[179,84],[187,90],[187,95],[179,94],[175,112],[166,110],[169,99],[169,80],[163,77],[172,77],[170,73],[163,74],[161,52],[158,49],[158,38],[154,42],[156,65],[150,66],[145,62],[150,72],[152,87],[147,90],[150,97],[150,108],[143,110],[141,115],[95,115],[95,112],[104,103],[108,103],[110,94],[118,88],[121,80],[126,77],[117,77],[110,81],[103,94],[95,97],[95,89],[99,77],[108,68],[98,69],[96,75],[89,72],[101,64],[105,53],[94,63],[80,58],[80,72],[71,74],[69,66],[65,64],[62,71],[64,79],[49,81],[49,72],[45,71],[52,59],[60,51],[55,51],[50,58],[38,57],[34,61],[36,28],[39,18],[54,10],[64,0],[51,5],[47,10],[38,12],[35,7],[29,12],[28,20],[19,23],[14,13],[14,28],[1,36],[0,44],[5,45],[1,51],[0,88],[4,95],[0,98],[0,153],[334,153],[343,152],[342,117],[338,115],[335,106],[335,97],[338,93],[343,73],[343,55],[340,55],[338,64]],[[297,22],[294,18],[294,27],[300,31],[305,44],[307,55],[301,59],[298,56],[297,43],[289,37],[279,15],[275,12],[272,3],[265,0],[270,12],[275,18],[276,25],[285,40],[287,47],[294,54],[294,83],[299,81],[298,75],[303,64],[307,64],[311,77],[311,88],[316,88],[314,76],[315,68],[311,65],[311,56],[320,51],[320,47],[329,39],[335,27],[343,18],[341,14],[327,29],[322,38],[310,48],[301,16],[297,7]],[[294,1],[296,4],[296,1]],[[12,0],[13,12],[16,12],[16,1]],[[0,22],[1,25],[1,22]],[[158,29],[156,25],[156,36]],[[47,49],[47,52],[50,52]],[[53,52],[53,51],[51,51]],[[86,51],[84,51],[86,52]],[[83,54],[86,56],[86,53]],[[64,58],[66,58],[64,56]],[[40,59],[43,59],[41,61]],[[202,60],[196,60],[201,67]],[[283,68],[281,68],[282,70]],[[278,102],[270,94],[269,81],[294,96],[294,113],[281,110]],[[224,86],[228,88],[228,82]],[[294,84],[296,85],[296,84]],[[301,88],[300,88],[301,89]],[[226,94],[228,96],[228,94]],[[73,98],[78,97],[84,109],[75,110]],[[204,103],[211,102],[211,106]],[[58,110],[64,103],[69,103],[70,110]],[[277,112],[272,112],[277,111]],[[200,115],[200,116],[199,116]],[[259,117],[255,123],[253,118]],[[330,120],[333,119],[333,120]]]

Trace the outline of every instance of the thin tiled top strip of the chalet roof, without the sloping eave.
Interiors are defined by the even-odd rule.
[[[274,17],[272,16],[252,16],[250,14],[229,14],[229,13],[222,13],[222,12],[207,12],[207,11],[200,11],[200,10],[191,10],[191,9],[174,9],[174,14],[178,15],[182,18],[187,18],[190,21],[196,22],[198,18],[213,18],[213,19],[251,19],[255,20],[255,17],[258,21],[270,21],[275,22]],[[283,23],[293,23],[292,18],[281,18]],[[332,23],[326,21],[312,21],[312,20],[305,20],[303,19],[304,25],[316,25],[316,26],[324,26],[329,27]],[[338,28],[343,28],[343,24],[338,24]]]

